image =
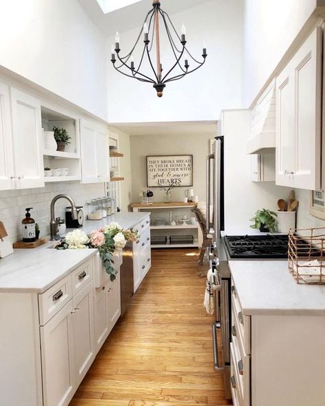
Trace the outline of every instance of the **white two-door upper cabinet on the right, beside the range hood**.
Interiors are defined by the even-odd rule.
[[[276,80],[276,184],[321,186],[322,28],[317,27]]]

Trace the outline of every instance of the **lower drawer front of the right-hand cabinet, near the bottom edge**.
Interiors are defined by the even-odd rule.
[[[237,337],[232,337],[231,367],[237,381],[237,394],[240,404],[250,406],[250,356],[243,355]]]

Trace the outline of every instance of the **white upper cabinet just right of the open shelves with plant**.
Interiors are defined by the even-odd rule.
[[[82,151],[82,182],[98,183],[110,180],[109,141],[105,126],[80,121]]]

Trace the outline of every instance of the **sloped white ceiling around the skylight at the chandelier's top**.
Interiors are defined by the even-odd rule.
[[[141,27],[145,15],[152,8],[152,0],[141,0],[134,3],[134,0],[123,0],[120,2],[118,10],[104,14],[97,0],[78,0],[88,14],[89,18],[99,27],[105,36],[112,36],[115,32],[125,32],[129,29]],[[108,0],[99,0],[105,9]],[[206,3],[210,0],[161,0],[161,7],[169,14],[176,14],[183,10],[188,10],[196,5]],[[126,5],[128,3],[132,3]],[[117,3],[117,1],[114,1]],[[110,5],[111,9],[116,8]]]

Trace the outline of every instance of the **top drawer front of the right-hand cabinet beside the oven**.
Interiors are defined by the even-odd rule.
[[[237,291],[232,283],[231,287],[232,320],[237,320],[237,330],[246,355],[250,355],[250,316],[243,315]]]

